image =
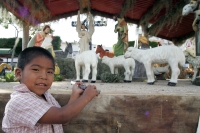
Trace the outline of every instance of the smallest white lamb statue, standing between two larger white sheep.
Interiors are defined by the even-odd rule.
[[[102,58],[102,63],[106,64],[110,68],[112,74],[118,74],[118,68],[124,67],[124,82],[131,82],[135,70],[135,60],[132,58],[125,59],[123,55],[114,56],[109,58],[104,56]]]

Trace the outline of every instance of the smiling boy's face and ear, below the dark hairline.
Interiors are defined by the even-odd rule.
[[[52,61],[47,57],[38,57],[27,64],[23,71],[17,68],[15,76],[30,91],[41,96],[52,85],[54,80],[54,66]]]

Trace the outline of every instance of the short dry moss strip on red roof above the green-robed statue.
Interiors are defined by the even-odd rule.
[[[136,3],[137,0],[125,0],[122,9],[120,11],[120,17],[124,17],[126,15],[126,12],[133,8],[134,4]]]

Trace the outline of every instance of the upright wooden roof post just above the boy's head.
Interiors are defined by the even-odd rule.
[[[29,24],[23,23],[23,38],[22,38],[22,50],[27,48],[27,44],[29,41]]]

